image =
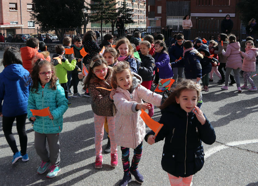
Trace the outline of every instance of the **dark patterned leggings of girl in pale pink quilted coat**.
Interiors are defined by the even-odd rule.
[[[124,174],[130,175],[130,149],[127,147],[121,147],[122,151],[122,163],[124,168]],[[134,156],[132,158],[131,168],[136,170],[138,168],[139,161],[142,156],[142,142],[134,149]]]

